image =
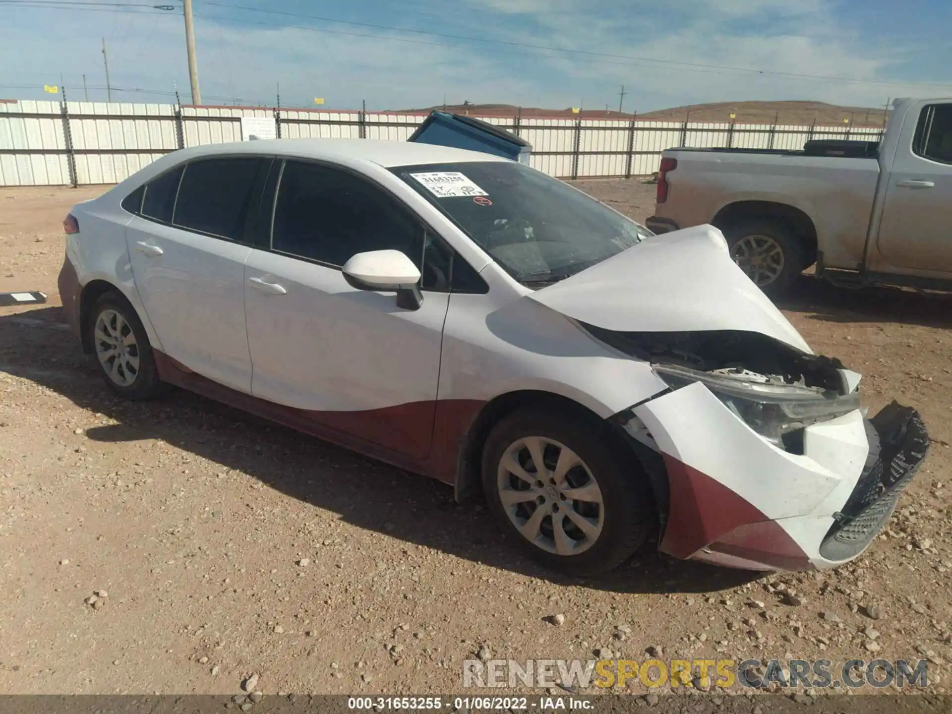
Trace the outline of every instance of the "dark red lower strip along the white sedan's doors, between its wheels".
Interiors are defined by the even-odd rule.
[[[158,350],[153,354],[164,382],[450,484],[466,432],[485,404],[448,399],[361,411],[298,409],[220,385]]]

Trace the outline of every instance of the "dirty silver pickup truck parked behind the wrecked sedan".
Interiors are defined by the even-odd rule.
[[[850,286],[952,290],[952,99],[902,99],[882,142],[668,149],[655,233],[712,224],[765,292],[805,268]]]

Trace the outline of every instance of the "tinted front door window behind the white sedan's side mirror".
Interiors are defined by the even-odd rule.
[[[421,268],[423,226],[383,190],[342,169],[288,161],[271,248],[340,268],[356,253],[402,250]]]

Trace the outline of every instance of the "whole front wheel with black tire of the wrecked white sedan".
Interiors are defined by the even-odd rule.
[[[634,453],[613,437],[594,419],[539,407],[509,414],[493,427],[483,449],[486,501],[506,535],[528,557],[552,570],[587,577],[621,565],[645,543],[656,521],[647,477]],[[542,480],[537,480],[529,486],[524,477],[536,473],[529,447],[532,440],[539,440],[549,477],[557,475],[553,468],[565,449],[581,464],[567,470],[562,485],[540,487]],[[512,454],[522,477],[503,466],[511,467]],[[504,492],[509,506],[504,505]],[[531,493],[536,494],[535,500],[527,500]],[[601,504],[568,498],[571,495],[597,496]],[[512,499],[519,502],[513,505]],[[536,513],[539,521],[534,522]],[[590,536],[578,526],[579,518],[585,519]],[[556,538],[556,519],[567,541]],[[536,538],[529,540],[517,523],[536,532]],[[538,528],[533,530],[533,523]]]

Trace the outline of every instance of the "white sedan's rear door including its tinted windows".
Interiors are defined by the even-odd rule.
[[[247,215],[270,161],[222,157],[171,169],[149,182],[126,228],[135,285],[166,352],[246,393]]]

